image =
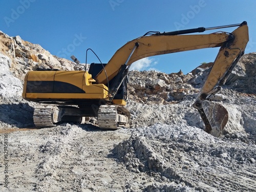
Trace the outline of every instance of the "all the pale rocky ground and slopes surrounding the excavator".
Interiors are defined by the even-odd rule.
[[[1,173],[7,172],[1,191],[256,191],[256,53],[242,57],[212,98],[229,113],[219,138],[203,131],[191,106],[211,65],[188,74],[131,71],[131,129],[70,123],[35,129],[37,103],[22,99],[26,73],[77,68],[0,32],[0,148],[8,152],[0,153]]]

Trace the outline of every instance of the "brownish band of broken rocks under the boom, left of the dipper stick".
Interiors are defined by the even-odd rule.
[[[192,76],[184,75],[181,71],[172,74],[132,71],[129,74],[131,100],[147,104],[183,100],[185,96],[198,93],[198,90],[188,83]]]

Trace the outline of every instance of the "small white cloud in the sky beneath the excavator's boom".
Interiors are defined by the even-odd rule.
[[[155,68],[153,68],[153,66],[155,66],[157,64],[157,61],[155,61],[155,59],[150,59],[148,57],[140,59],[135,61],[130,70],[138,70],[138,71],[144,71],[144,70],[156,70]]]

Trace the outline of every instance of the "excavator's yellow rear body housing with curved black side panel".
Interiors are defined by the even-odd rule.
[[[30,71],[26,74],[23,98],[31,101],[58,99],[107,99],[108,87],[92,84],[85,71]]]

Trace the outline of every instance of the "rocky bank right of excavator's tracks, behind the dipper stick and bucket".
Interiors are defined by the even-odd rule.
[[[246,62],[248,60],[248,62]],[[192,104],[204,84],[212,63],[205,63],[191,73],[165,74],[156,71],[132,71],[128,108],[134,126],[186,123],[204,129]],[[212,100],[222,103],[229,112],[229,121],[223,134],[234,132],[255,134],[256,54],[249,53],[227,79],[227,83]],[[247,86],[249,85],[249,86]]]

